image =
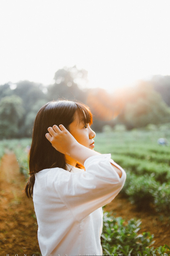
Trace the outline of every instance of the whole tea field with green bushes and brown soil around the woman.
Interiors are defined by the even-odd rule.
[[[167,145],[159,145],[159,138],[166,138]],[[30,144],[31,139],[0,141],[2,255],[40,255],[33,203],[23,192]],[[112,159],[127,173],[120,194],[103,207],[103,253],[169,255],[170,131],[98,133],[95,150],[111,153]]]

